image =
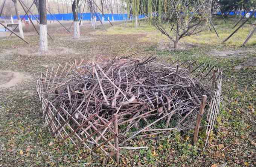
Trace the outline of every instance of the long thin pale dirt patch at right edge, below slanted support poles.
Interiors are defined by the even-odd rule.
[[[209,56],[219,56],[219,57],[231,57],[231,56],[243,56],[248,53],[253,53],[254,50],[226,50],[226,51],[207,51],[206,54]]]

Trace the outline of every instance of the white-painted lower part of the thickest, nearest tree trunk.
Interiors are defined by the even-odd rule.
[[[48,51],[47,25],[40,24],[39,28],[39,52],[44,53]]]

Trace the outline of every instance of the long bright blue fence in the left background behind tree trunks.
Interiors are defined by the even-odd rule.
[[[109,18],[110,21],[120,21],[120,20],[126,20],[127,18],[127,14],[104,14],[105,17]],[[94,16],[96,17],[96,19],[99,21],[99,18],[102,19],[102,14],[100,13],[96,13],[94,14]],[[113,16],[113,17],[112,17]],[[23,18],[24,15],[20,15],[20,18]],[[29,15],[29,17],[31,18],[31,20],[36,20],[39,18],[39,15]],[[53,15],[50,15],[50,14],[47,14],[47,20],[73,20],[73,14],[70,13],[70,14],[53,14]],[[83,14],[79,14],[78,15],[79,19],[81,19],[82,17],[82,20],[91,20],[91,14],[90,13],[83,13]],[[139,19],[140,18],[144,18],[145,16],[144,15],[139,15]],[[5,17],[1,17],[2,19],[6,19]],[[132,18],[132,17],[131,17]],[[14,16],[13,19],[17,19],[17,16]],[[29,20],[29,18],[27,17],[27,15],[25,15],[24,17],[25,20]],[[107,21],[106,18],[104,18],[104,21]]]

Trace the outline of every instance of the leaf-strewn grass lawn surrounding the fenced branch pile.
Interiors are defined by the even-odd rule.
[[[15,71],[26,75],[20,84],[0,90],[0,167],[83,167],[115,166],[102,155],[89,155],[84,148],[72,149],[65,144],[52,144],[48,129],[42,122],[40,101],[35,90],[35,79],[40,72],[73,59],[106,61],[116,56],[146,57],[155,55],[160,61],[171,59],[197,60],[223,69],[223,103],[210,144],[203,149],[205,129],[201,128],[198,144],[194,146],[193,130],[150,140],[134,139],[133,146],[148,149],[122,150],[121,166],[256,166],[256,36],[246,47],[240,47],[250,26],[239,30],[225,44],[221,42],[234,30],[232,19],[227,23],[215,19],[215,33],[207,31],[181,40],[182,49],[172,49],[170,41],[153,26],[141,23],[138,29],[129,23],[92,30],[81,27],[81,40],[63,28],[50,30],[50,52],[38,56],[38,36],[25,38],[29,45],[16,37],[0,39],[0,71]],[[31,32],[30,32],[31,34]],[[204,123],[204,122],[203,122]]]

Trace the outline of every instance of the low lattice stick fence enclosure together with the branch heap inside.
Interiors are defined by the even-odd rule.
[[[133,138],[199,129],[207,95],[209,137],[221,102],[221,71],[189,60],[171,65],[154,59],[75,60],[47,69],[37,92],[49,131],[59,142],[94,155],[115,154],[119,162],[120,148]]]

